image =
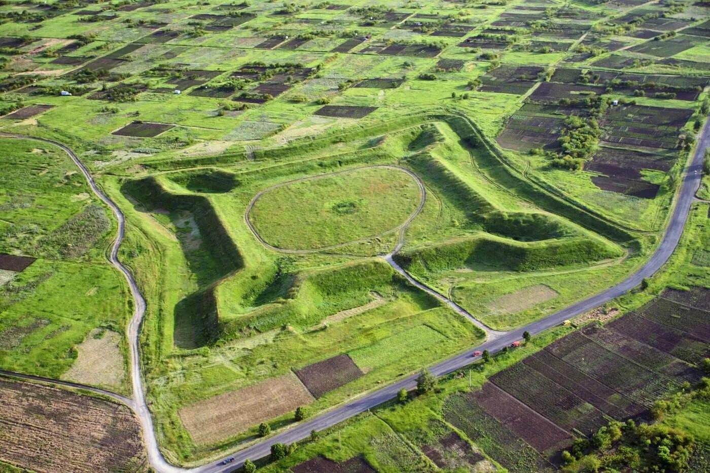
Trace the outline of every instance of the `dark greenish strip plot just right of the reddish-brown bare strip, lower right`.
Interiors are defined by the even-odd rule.
[[[491,382],[562,428],[589,434],[606,425],[599,409],[525,364],[499,372]]]

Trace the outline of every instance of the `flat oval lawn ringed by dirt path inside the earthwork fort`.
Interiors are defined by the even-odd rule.
[[[421,198],[417,180],[404,170],[359,168],[271,187],[247,218],[271,246],[315,250],[390,232]]]

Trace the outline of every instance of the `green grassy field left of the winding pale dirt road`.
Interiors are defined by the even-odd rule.
[[[59,378],[77,363],[80,344],[111,330],[120,334],[104,353],[112,368],[80,379],[126,391],[128,294],[103,260],[112,227],[107,211],[55,146],[6,138],[0,150],[6,169],[0,178],[0,268],[6,275],[0,286],[0,367]],[[83,349],[82,357],[97,349]]]

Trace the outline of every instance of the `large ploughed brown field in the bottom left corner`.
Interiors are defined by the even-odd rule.
[[[0,462],[35,472],[148,471],[140,425],[126,406],[5,378],[0,392]]]

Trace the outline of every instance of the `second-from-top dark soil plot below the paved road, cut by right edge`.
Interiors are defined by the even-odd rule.
[[[664,298],[655,298],[636,310],[638,315],[673,327],[710,343],[710,312],[676,303]]]

